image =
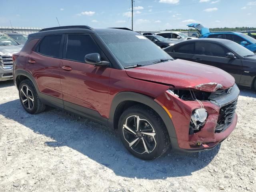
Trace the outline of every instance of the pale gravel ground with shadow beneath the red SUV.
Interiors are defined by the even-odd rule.
[[[57,109],[26,113],[14,84],[0,82],[0,192],[255,192],[256,93],[241,90],[236,111],[221,146],[143,161],[96,122]]]

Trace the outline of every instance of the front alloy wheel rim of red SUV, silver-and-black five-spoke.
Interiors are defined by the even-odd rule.
[[[129,116],[123,124],[124,139],[139,154],[149,154],[156,148],[156,132],[148,120]]]

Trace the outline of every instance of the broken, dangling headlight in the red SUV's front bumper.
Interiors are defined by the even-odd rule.
[[[200,131],[206,122],[207,116],[208,116],[208,112],[206,111],[206,109],[204,108],[195,109],[192,112],[191,119],[190,119],[189,134],[194,134]]]

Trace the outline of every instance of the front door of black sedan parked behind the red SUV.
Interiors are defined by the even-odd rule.
[[[196,54],[193,59],[196,62],[218,67],[231,74],[236,83],[240,83],[242,74],[242,61],[226,58],[226,53],[232,52],[226,47],[214,42],[196,42]]]

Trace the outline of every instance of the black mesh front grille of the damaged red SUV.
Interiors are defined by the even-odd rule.
[[[215,128],[215,133],[223,132],[232,123],[236,111],[236,104],[237,100],[220,108],[220,114],[218,117],[217,126]]]

